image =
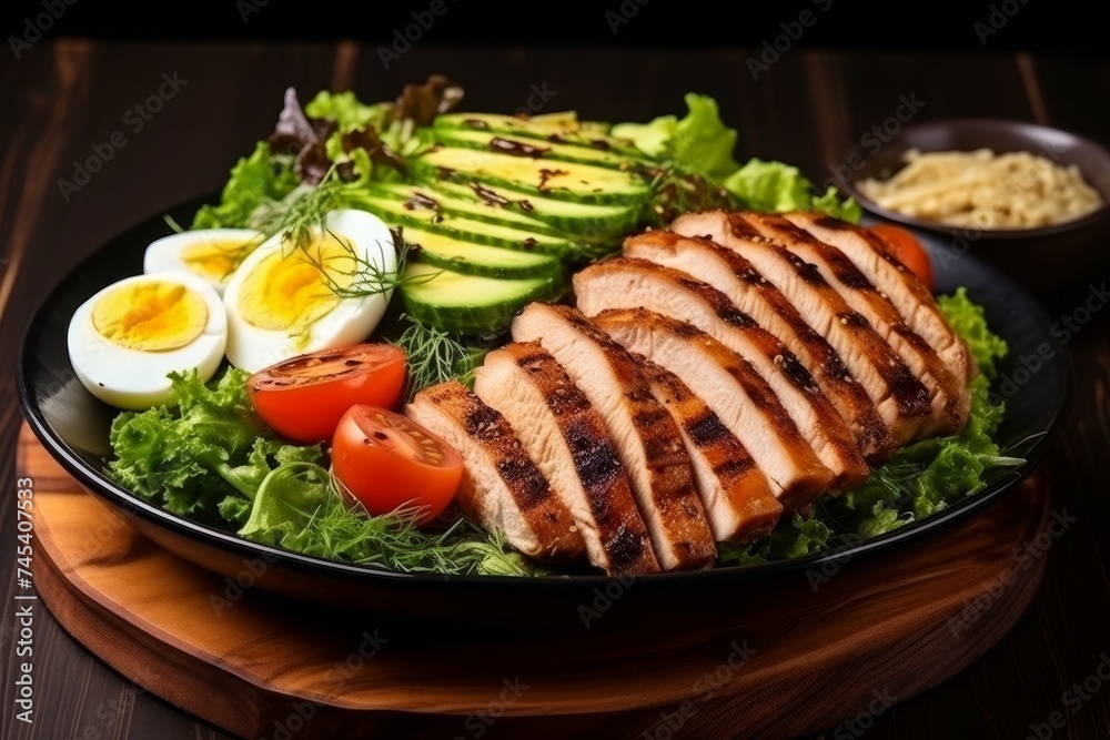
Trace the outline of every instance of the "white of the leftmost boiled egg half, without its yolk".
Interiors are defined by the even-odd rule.
[[[176,349],[152,352],[131,349],[101,335],[92,321],[97,302],[112,290],[143,282],[176,283],[199,295],[208,308],[200,336]],[[210,379],[223,362],[226,343],[228,320],[220,296],[208,282],[188,272],[135,275],[104,287],[73,312],[67,333],[70,363],[81,385],[101,401],[129,410],[165,403],[171,371],[195,368],[202,381]]]

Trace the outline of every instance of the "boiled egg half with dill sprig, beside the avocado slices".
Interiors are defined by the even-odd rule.
[[[224,291],[228,359],[252,373],[294,355],[365,341],[396,275],[389,226],[359,210],[327,214],[303,246],[278,234],[239,266]],[[382,290],[385,288],[385,290]]]

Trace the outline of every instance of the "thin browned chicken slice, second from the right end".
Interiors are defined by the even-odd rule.
[[[952,434],[963,428],[970,408],[967,378],[945,367],[936,349],[911,330],[898,310],[871,285],[856,265],[831,244],[771,213],[745,213],[745,220],[760,233],[817,265],[829,285],[870,323],[879,336],[894,347],[930,394],[930,420],[922,425],[922,436]]]

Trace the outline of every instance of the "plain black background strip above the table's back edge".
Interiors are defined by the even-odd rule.
[[[65,12],[48,29],[53,36],[101,39],[352,39],[387,43],[394,30],[426,11],[432,0],[311,3],[293,0],[147,1],[109,7],[95,0],[14,0],[0,10],[7,40],[21,36],[28,18],[49,7]],[[1097,4],[1078,0],[859,3],[848,0],[696,3],[680,0],[442,0],[470,4],[451,23],[430,29],[437,44],[623,44],[754,45],[781,32],[779,24],[804,10],[821,17],[798,39],[799,47],[867,49],[1039,50],[1069,53],[1107,49]],[[823,8],[827,11],[823,11]],[[252,12],[256,10],[258,12]],[[628,22],[614,21],[607,13]],[[993,18],[998,33],[985,27]],[[244,20],[245,19],[245,20]],[[1005,24],[1003,24],[1005,20]],[[614,29],[616,31],[614,32]]]

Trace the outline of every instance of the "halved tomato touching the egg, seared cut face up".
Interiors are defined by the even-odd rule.
[[[252,375],[246,391],[275,432],[314,444],[330,440],[355,404],[392,408],[404,384],[404,349],[360,344],[290,357]]]

